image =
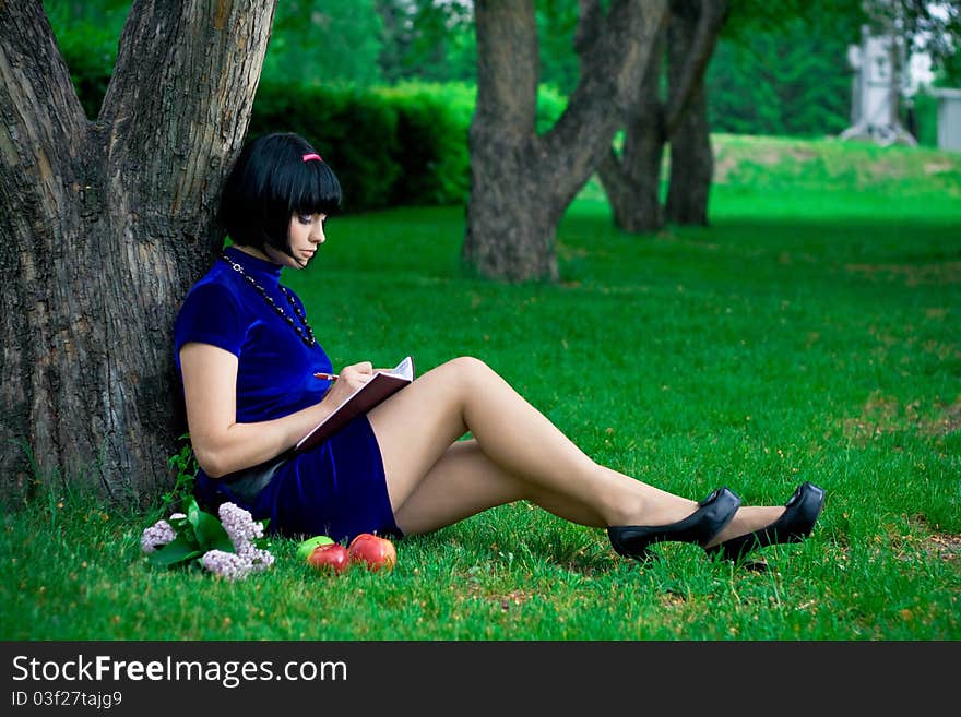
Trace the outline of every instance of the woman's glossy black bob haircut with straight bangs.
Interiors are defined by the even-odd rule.
[[[221,195],[218,219],[235,244],[290,254],[290,217],[334,214],[341,183],[317,152],[293,132],[264,134],[240,152]]]

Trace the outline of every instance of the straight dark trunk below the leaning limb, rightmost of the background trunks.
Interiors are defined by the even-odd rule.
[[[671,182],[665,207],[667,222],[707,226],[708,195],[713,177],[714,153],[708,124],[708,97],[701,85],[671,138]]]

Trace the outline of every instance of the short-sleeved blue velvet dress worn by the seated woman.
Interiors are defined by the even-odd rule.
[[[229,259],[244,267],[285,313],[294,316],[281,291],[281,267],[233,247]],[[287,294],[301,311],[300,299]],[[240,273],[216,261],[188,292],[174,330],[174,354],[180,371],[180,348],[189,342],[217,346],[237,357],[237,422],[271,420],[318,403],[330,382],[315,378],[330,372],[320,343],[312,347],[272,309]],[[213,479],[203,470],[197,499],[213,510],[232,501],[269,529],[290,537],[328,535],[349,540],[358,533],[401,536],[387,492],[377,438],[360,416],[328,441],[305,453],[288,453],[270,482],[256,493],[232,490],[238,474]],[[235,483],[240,485],[240,483]]]

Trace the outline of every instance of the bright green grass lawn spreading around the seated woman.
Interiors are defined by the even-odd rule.
[[[517,503],[398,542],[391,574],[152,569],[143,527],[47,480],[3,517],[7,640],[957,640],[961,637],[961,155],[716,138],[709,228],[615,230],[595,183],[561,280],[460,264],[462,208],[331,220],[286,276],[334,365],[474,355],[589,454],[690,498],[828,491],[766,573]]]

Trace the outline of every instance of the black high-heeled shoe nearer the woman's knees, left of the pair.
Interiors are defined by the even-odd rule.
[[[617,554],[641,561],[653,557],[649,548],[655,542],[696,542],[703,547],[731,522],[740,499],[727,488],[719,488],[698,505],[697,511],[677,523],[612,526],[607,537]]]

